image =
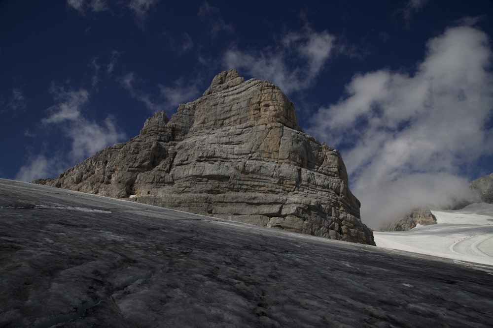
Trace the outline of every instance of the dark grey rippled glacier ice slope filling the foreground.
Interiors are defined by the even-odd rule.
[[[0,327],[493,322],[490,266],[2,179],[0,246]]]

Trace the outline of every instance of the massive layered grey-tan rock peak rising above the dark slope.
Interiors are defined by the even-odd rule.
[[[235,70],[171,119],[157,113],[130,141],[34,182],[374,244],[339,152],[303,132],[279,88]]]

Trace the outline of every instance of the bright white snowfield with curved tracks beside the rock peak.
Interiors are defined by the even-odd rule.
[[[377,247],[493,265],[493,204],[431,212],[437,224],[409,231],[374,232]]]

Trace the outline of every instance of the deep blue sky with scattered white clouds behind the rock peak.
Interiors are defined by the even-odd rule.
[[[0,177],[55,177],[234,68],[341,151],[364,222],[443,203],[493,172],[492,35],[489,0],[0,1]]]

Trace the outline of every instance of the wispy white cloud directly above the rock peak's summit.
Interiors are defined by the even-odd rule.
[[[273,82],[285,93],[308,89],[330,58],[334,40],[327,31],[316,32],[307,27],[284,35],[275,47],[229,49],[223,56],[223,66],[244,69],[251,76]],[[297,64],[292,65],[293,62]]]

